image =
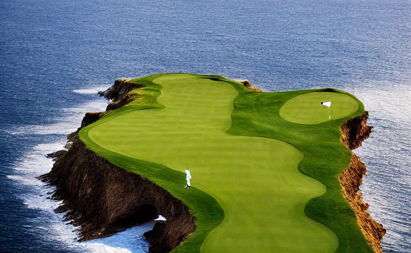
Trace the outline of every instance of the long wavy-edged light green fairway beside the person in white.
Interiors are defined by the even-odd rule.
[[[186,74],[153,82],[162,85],[163,109],[125,113],[90,127],[88,137],[126,157],[190,168],[192,185],[224,210],[201,252],[335,252],[336,235],[304,213],[326,187],[298,170],[303,153],[276,139],[227,133],[235,85]]]

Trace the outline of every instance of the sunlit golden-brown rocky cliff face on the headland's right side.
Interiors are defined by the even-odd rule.
[[[372,127],[367,126],[368,117],[369,115],[366,111],[364,114],[348,120],[340,126],[342,142],[350,150],[361,146],[361,142],[370,136]],[[386,230],[382,224],[372,219],[370,213],[367,212],[369,205],[364,202],[359,189],[360,185],[363,184],[363,176],[366,172],[365,164],[353,153],[351,163],[348,168],[341,172],[339,181],[344,198],[357,216],[361,231],[374,252],[382,253],[381,240]]]

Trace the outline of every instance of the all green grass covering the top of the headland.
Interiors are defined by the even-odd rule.
[[[146,84],[131,91],[136,100],[80,137],[190,208],[196,232],[173,252],[372,252],[338,183],[351,156],[338,125],[364,111],[358,99],[336,90],[253,92],[220,76],[161,74],[131,82]],[[336,106],[332,113],[341,119],[331,127],[292,123],[289,109],[299,103],[287,101],[307,100],[311,92],[333,103],[348,97],[358,109]],[[190,190],[182,188],[186,168]]]

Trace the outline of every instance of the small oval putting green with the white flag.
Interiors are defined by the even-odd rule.
[[[331,107],[321,102],[331,101]],[[280,109],[280,116],[292,123],[315,125],[341,119],[355,113],[358,102],[349,95],[337,92],[310,92],[288,100]]]

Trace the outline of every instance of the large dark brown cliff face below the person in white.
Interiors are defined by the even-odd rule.
[[[167,221],[145,236],[150,253],[163,253],[195,230],[194,217],[182,201],[148,179],[112,165],[80,139],[40,179],[56,187],[52,199],[63,204],[55,211],[67,211],[65,220],[79,226],[79,241],[111,236],[162,214]]]

